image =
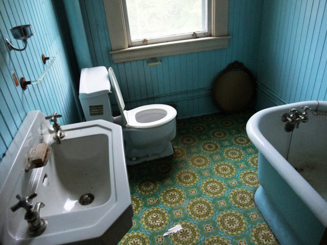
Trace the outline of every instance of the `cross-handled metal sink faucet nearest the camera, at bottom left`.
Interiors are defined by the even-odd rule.
[[[45,206],[44,203],[36,203],[34,209],[32,203],[30,203],[30,200],[36,196],[37,194],[35,192],[28,197],[22,197],[18,194],[16,195],[16,198],[19,202],[10,208],[13,212],[19,208],[26,209],[25,220],[27,220],[27,223],[29,224],[28,232],[31,236],[41,235],[45,230],[46,225],[48,225],[48,222],[45,219],[40,218],[40,208]]]

